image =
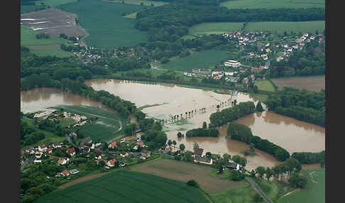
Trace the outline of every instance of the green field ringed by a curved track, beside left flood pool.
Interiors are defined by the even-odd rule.
[[[97,117],[96,121],[89,124],[78,126],[80,132],[84,137],[90,136],[94,140],[110,141],[116,137],[122,126],[126,124],[126,119],[116,114],[114,111],[105,110],[96,106],[65,106],[61,105],[55,107],[60,109],[62,107],[65,111],[72,114],[80,114],[90,117]]]

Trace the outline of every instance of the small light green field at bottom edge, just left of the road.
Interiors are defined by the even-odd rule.
[[[234,190],[226,190],[209,194],[214,203],[254,203],[253,195],[255,191],[250,185]]]

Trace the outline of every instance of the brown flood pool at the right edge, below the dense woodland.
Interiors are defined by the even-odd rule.
[[[244,116],[238,121],[251,128],[253,135],[294,152],[320,152],[325,149],[325,129],[271,111]]]

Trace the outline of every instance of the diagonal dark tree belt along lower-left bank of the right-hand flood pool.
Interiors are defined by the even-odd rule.
[[[242,141],[244,143],[247,143],[248,145],[253,143],[255,148],[273,155],[280,161],[284,161],[290,158],[290,153],[288,153],[287,150],[275,145],[274,143],[271,143],[266,139],[261,139],[258,136],[253,136],[253,133],[251,133],[251,128],[243,124],[236,124],[231,122],[226,132],[226,137],[236,141]]]

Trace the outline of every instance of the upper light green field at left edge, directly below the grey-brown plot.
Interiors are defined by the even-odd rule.
[[[61,43],[68,43],[68,40],[61,38],[36,39],[37,32],[31,28],[21,26],[21,45],[36,46],[36,45],[60,45]]]

